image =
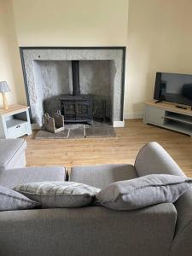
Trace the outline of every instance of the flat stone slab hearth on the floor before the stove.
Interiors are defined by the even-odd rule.
[[[58,133],[39,130],[36,134],[36,139],[76,139],[93,137],[116,137],[116,134],[112,125],[95,121],[93,125],[67,124],[65,125],[65,130]]]

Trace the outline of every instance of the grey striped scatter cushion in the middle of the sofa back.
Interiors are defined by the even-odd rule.
[[[25,183],[15,190],[33,201],[41,203],[43,208],[84,207],[90,205],[100,191],[95,187],[74,182],[38,182]]]

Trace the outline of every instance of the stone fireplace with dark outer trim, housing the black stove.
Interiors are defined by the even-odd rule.
[[[21,47],[32,127],[61,110],[66,122],[124,125],[125,47]]]

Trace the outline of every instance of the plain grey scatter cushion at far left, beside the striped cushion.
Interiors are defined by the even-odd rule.
[[[0,212],[31,209],[40,206],[40,203],[28,199],[25,195],[0,186]]]

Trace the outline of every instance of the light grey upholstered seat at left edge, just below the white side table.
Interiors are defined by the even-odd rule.
[[[0,170],[15,168],[18,160],[25,157],[25,149],[25,139],[0,139]],[[25,165],[24,160],[20,162],[20,167]]]

